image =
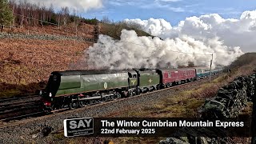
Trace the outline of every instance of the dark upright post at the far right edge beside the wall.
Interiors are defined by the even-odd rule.
[[[253,114],[251,120],[251,144],[256,144],[256,70],[254,70]]]

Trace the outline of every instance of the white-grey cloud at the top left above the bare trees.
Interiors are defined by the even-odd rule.
[[[40,6],[49,7],[51,4],[55,9],[60,9],[61,7],[69,7],[71,9],[76,9],[79,11],[86,11],[90,9],[98,9],[102,7],[102,0],[27,0],[27,2],[40,4]]]

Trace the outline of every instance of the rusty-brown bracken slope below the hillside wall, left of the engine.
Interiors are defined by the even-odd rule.
[[[72,63],[83,58],[83,50],[89,46],[85,42],[68,40],[2,38],[0,40],[0,97],[19,94],[20,87],[30,87],[28,85],[31,83],[33,83],[32,86],[34,83],[42,84],[54,70],[70,69]]]

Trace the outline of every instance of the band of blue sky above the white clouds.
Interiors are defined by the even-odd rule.
[[[103,0],[102,7],[82,13],[85,18],[116,21],[125,18],[164,18],[172,26],[190,16],[219,14],[222,18],[240,18],[245,10],[256,10],[255,0]]]

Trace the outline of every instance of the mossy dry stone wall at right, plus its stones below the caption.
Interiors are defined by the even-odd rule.
[[[207,99],[199,112],[201,118],[236,118],[242,109],[251,101],[254,96],[254,81],[255,74],[250,76],[240,76],[235,78],[233,82],[223,86],[218,90],[218,94],[214,98]],[[204,130],[205,131],[205,130]],[[186,133],[186,137],[171,137],[160,141],[160,144],[187,144],[187,143],[228,143],[228,138],[218,138],[212,132],[212,138],[196,137],[194,134],[199,134],[201,131],[198,129],[186,129],[178,131],[177,134]],[[202,132],[201,132],[202,133]],[[209,131],[209,133],[211,133]],[[217,132],[219,133],[219,132]]]

